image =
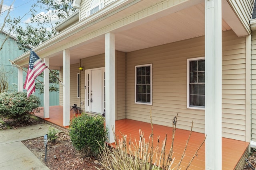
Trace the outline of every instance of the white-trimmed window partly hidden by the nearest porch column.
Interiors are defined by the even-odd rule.
[[[205,64],[204,57],[188,59],[188,108],[204,109],[205,106]]]

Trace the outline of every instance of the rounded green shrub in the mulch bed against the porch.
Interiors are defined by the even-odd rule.
[[[70,123],[70,139],[73,146],[85,156],[97,156],[100,145],[104,145],[106,131],[104,117],[82,113]],[[98,145],[98,143],[100,145]]]

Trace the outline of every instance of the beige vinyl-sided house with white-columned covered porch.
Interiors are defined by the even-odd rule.
[[[254,0],[74,0],[73,6],[79,12],[56,26],[58,35],[33,49],[60,70],[63,126],[72,104],[105,110],[107,127],[125,118],[150,122],[150,108],[154,123],[170,126],[179,113],[178,128],[189,130],[193,120],[194,131],[207,135],[206,169],[222,168],[222,137],[256,138]],[[29,52],[14,62],[27,66],[28,59]],[[111,131],[108,138],[113,142]]]

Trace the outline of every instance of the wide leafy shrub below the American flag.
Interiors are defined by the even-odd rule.
[[[27,98],[25,92],[0,93],[0,115],[26,122],[31,114],[39,112],[40,99],[34,95]]]

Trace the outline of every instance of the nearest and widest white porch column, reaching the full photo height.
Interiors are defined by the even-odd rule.
[[[205,169],[222,169],[221,0],[205,0]]]

